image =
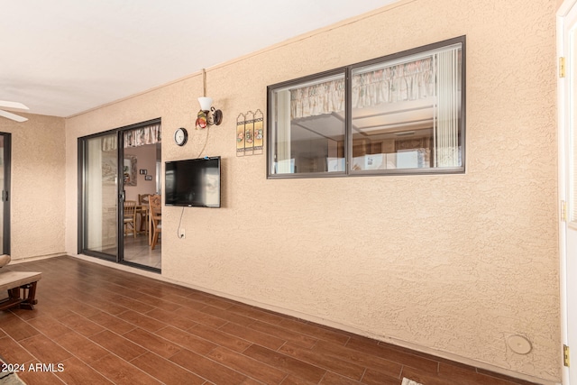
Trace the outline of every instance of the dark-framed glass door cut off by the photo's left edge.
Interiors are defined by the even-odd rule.
[[[10,133],[0,133],[0,254],[10,254]]]

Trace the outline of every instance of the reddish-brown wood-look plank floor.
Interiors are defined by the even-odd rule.
[[[0,312],[7,362],[54,364],[28,384],[528,383],[75,258],[2,270],[42,272],[34,310]]]

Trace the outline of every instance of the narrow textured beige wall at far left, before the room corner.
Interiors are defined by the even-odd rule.
[[[65,253],[64,119],[26,117],[24,123],[0,118],[0,132],[12,133],[13,261]]]

